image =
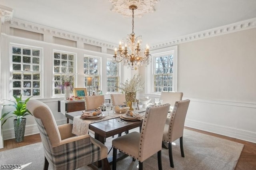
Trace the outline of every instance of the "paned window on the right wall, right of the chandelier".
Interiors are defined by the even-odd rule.
[[[173,55],[154,57],[154,92],[173,91]]]

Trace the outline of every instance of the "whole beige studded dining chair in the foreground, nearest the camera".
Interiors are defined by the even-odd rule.
[[[139,161],[139,170],[143,169],[143,161],[158,153],[158,169],[162,170],[162,138],[164,124],[170,104],[149,106],[146,108],[141,132],[131,132],[112,140],[113,164],[116,170],[117,149]]]

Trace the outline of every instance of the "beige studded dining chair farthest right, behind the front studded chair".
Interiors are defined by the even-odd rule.
[[[172,168],[174,168],[172,159],[172,142],[178,138],[180,138],[181,156],[185,157],[183,149],[183,130],[189,103],[189,99],[176,101],[172,110],[171,117],[166,119],[166,124],[164,125],[163,140],[168,142],[169,160],[170,166]]]

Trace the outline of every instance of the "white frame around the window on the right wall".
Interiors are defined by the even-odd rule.
[[[148,94],[160,94],[160,92],[154,92],[154,67],[155,67],[155,57],[161,57],[166,55],[173,55],[173,91],[178,90],[178,46],[166,47],[163,49],[156,49],[150,52],[152,55],[152,63],[145,67],[145,82],[148,82],[145,86],[145,93]]]

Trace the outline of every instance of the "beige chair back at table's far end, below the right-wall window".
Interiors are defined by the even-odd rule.
[[[162,91],[160,95],[160,100],[163,100],[163,103],[169,103],[171,106],[174,106],[176,101],[182,100],[182,97],[182,92]]]

